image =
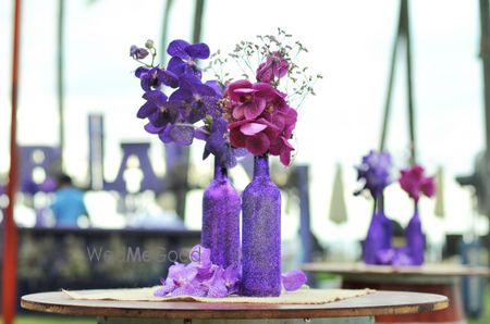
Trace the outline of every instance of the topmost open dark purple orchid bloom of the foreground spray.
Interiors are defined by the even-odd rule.
[[[177,76],[193,74],[198,78],[201,77],[203,73],[197,67],[196,60],[209,58],[209,47],[206,43],[191,45],[185,40],[175,39],[169,43],[167,52],[172,57],[168,65],[169,71]]]

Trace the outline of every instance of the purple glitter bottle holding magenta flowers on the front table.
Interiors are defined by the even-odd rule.
[[[254,179],[242,196],[242,295],[281,295],[281,192],[268,155],[254,158]]]

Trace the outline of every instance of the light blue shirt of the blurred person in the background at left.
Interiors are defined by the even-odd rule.
[[[88,215],[84,203],[84,192],[74,187],[59,189],[51,209],[57,220],[57,226],[77,226],[78,217]]]

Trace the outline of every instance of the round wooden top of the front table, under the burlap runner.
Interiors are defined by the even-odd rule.
[[[420,292],[376,291],[324,304],[259,304],[73,300],[51,291],[22,297],[24,309],[72,315],[162,319],[307,319],[411,314],[448,308],[445,296]]]

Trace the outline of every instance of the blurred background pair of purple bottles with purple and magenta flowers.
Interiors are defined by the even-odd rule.
[[[400,186],[414,199],[415,212],[405,229],[406,246],[392,247],[392,225],[382,205],[383,189],[390,185],[391,157],[385,152],[371,151],[357,166],[358,179],[364,182],[359,195],[367,189],[375,198],[375,212],[364,242],[363,258],[367,264],[420,265],[424,263],[424,234],[418,216],[418,200],[436,192],[434,178],[425,176],[424,167],[415,164],[401,171]]]

